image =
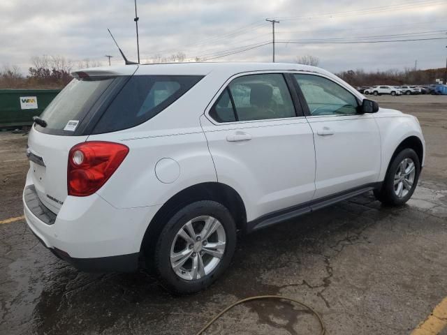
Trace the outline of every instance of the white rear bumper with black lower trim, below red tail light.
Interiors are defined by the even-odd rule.
[[[32,188],[27,178],[22,198],[25,219],[36,237],[57,257],[81,271],[138,269],[142,238],[159,206],[117,209],[94,194],[68,196],[57,215],[47,211],[40,215],[42,208],[33,198]]]

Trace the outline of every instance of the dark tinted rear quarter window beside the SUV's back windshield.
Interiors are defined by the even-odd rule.
[[[138,126],[174,103],[202,78],[198,75],[135,75],[105,110],[92,133]]]

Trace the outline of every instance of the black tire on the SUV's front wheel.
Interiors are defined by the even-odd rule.
[[[408,177],[410,177],[409,180],[411,181],[411,187],[409,189],[406,188],[409,186],[409,181],[407,181],[407,184],[405,185],[405,182],[402,180],[402,194],[398,195],[397,193],[400,193],[399,191],[401,189],[401,182],[395,185],[395,181],[397,181],[397,175],[400,172],[402,173],[401,163],[405,159],[408,164],[406,165],[407,168],[405,171],[410,171],[409,162],[411,161],[414,164],[414,174],[412,178],[410,172],[408,174]],[[411,198],[411,195],[413,195],[418,184],[419,174],[420,162],[416,152],[409,148],[402,149],[402,151],[393,158],[393,161],[391,161],[381,188],[379,190],[374,190],[376,199],[389,206],[401,206]],[[400,178],[402,179],[403,177]],[[405,180],[407,179],[405,178]]]

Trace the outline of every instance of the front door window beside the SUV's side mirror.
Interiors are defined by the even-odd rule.
[[[339,84],[318,75],[294,75],[311,115],[355,114],[358,101]]]

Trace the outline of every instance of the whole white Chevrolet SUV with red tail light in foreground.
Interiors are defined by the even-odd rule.
[[[154,269],[196,292],[253,232],[374,191],[404,204],[416,117],[320,68],[191,63],[73,73],[29,133],[29,228],[85,271]]]

